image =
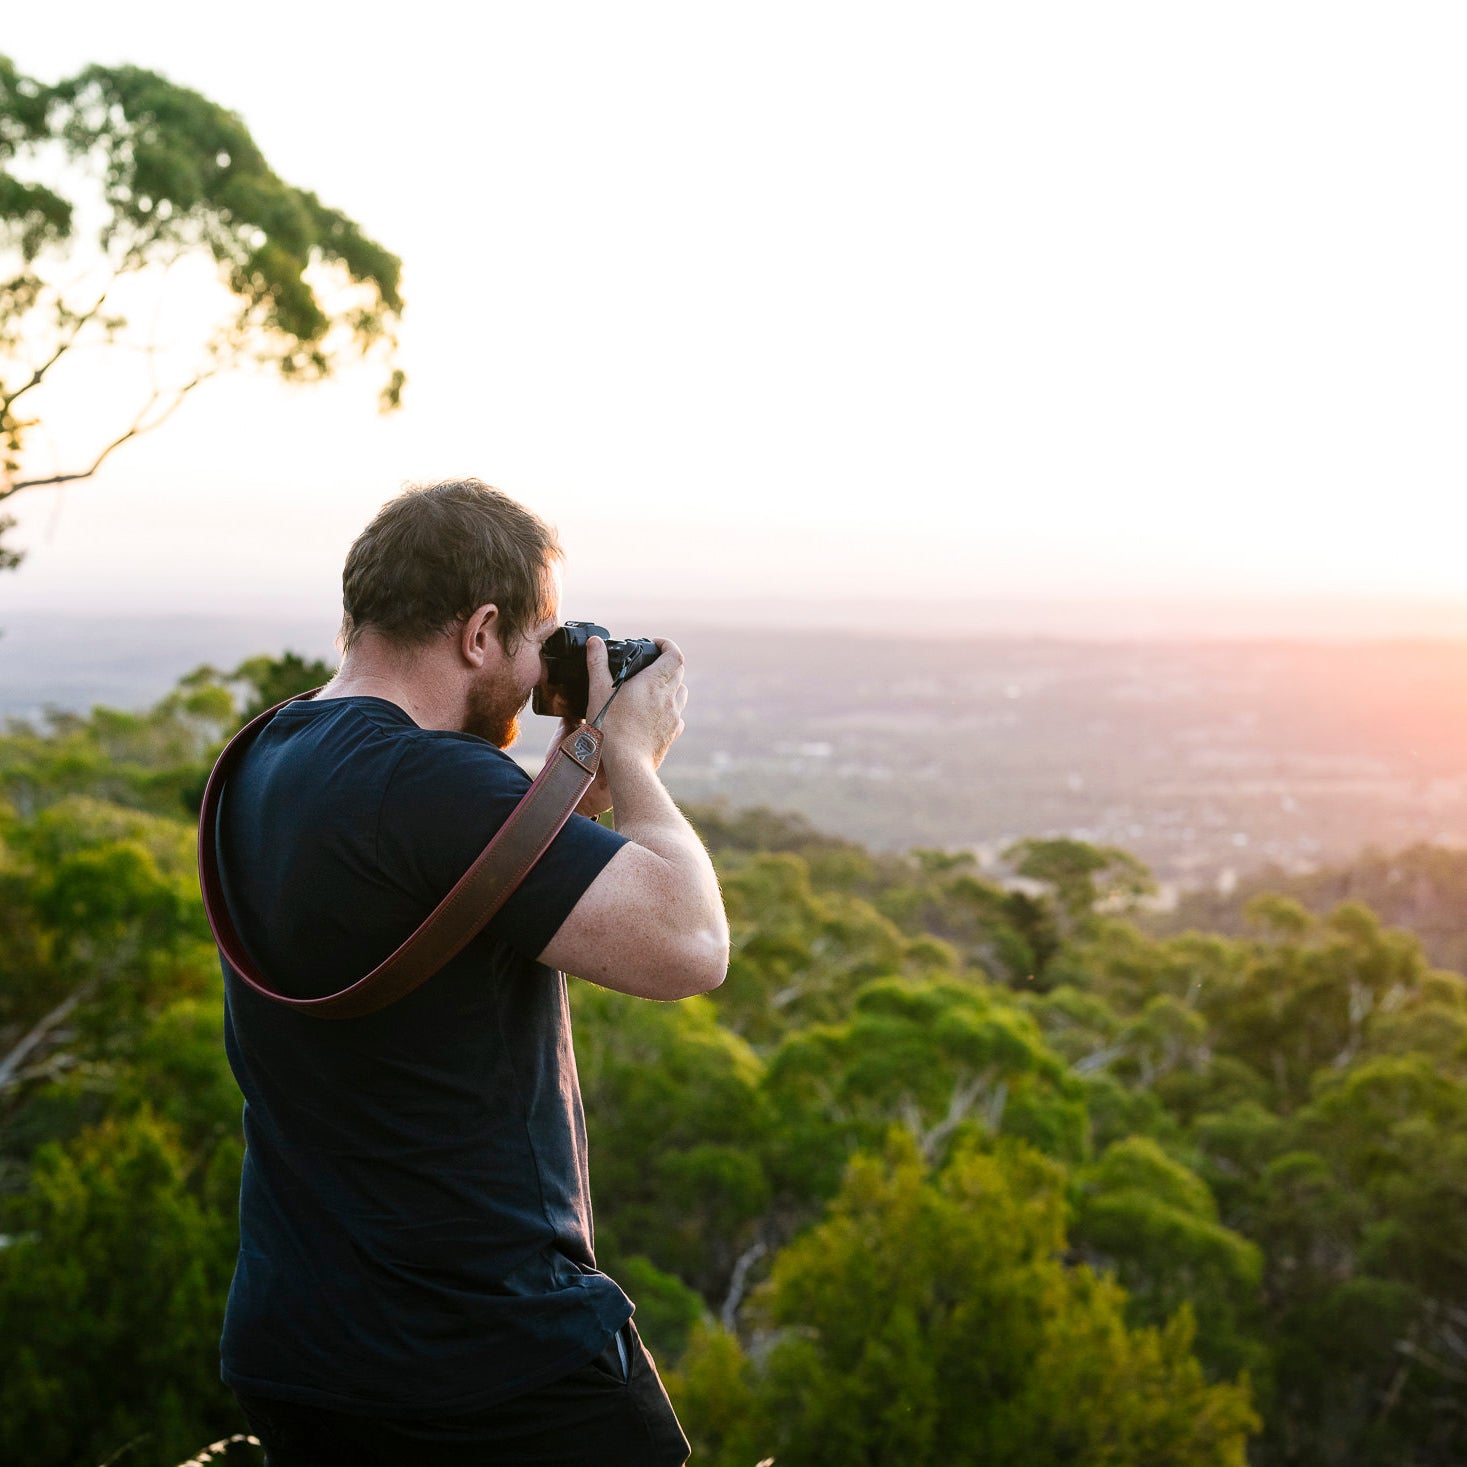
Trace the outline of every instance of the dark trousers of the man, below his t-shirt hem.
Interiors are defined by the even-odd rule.
[[[266,1467],[682,1467],[688,1439],[631,1320],[619,1339],[553,1385],[472,1416],[405,1420],[236,1398]]]

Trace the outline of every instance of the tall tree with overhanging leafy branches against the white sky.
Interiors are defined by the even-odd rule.
[[[352,356],[384,358],[381,402],[398,403],[400,261],[277,178],[235,113],[135,66],[45,87],[0,57],[0,502],[88,478],[244,364],[315,381]],[[200,264],[213,320],[191,312],[186,340],[160,339],[144,317],[156,320],[170,273]],[[139,400],[78,462],[28,467],[32,395],[100,343],[141,354]]]

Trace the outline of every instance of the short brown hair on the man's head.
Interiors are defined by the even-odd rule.
[[[367,626],[421,643],[499,607],[499,640],[513,648],[555,615],[550,565],[563,556],[555,530],[477,478],[411,484],[377,511],[346,553],[342,645]]]

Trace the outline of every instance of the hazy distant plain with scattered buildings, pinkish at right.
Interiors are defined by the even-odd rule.
[[[333,657],[301,621],[3,622],[0,714],[142,707],[202,662]],[[1467,844],[1467,641],[908,640],[694,629],[684,801],[767,805],[877,849],[1069,835],[1166,889]],[[525,719],[527,761],[549,726]]]

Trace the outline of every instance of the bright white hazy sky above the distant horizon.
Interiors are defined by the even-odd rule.
[[[201,389],[12,502],[0,607],[334,604],[449,474],[559,524],[572,612],[1467,603],[1464,41],[1339,0],[23,7],[22,70],[194,87],[400,254],[409,389]]]

